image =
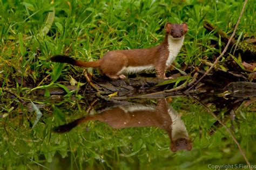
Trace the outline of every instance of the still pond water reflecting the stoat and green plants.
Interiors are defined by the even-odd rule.
[[[253,96],[158,96],[118,104],[88,97],[57,98],[33,98],[36,107],[31,102],[12,103],[14,108],[5,111],[0,121],[3,169],[246,165],[230,134],[203,105],[226,124],[251,165],[256,164]]]

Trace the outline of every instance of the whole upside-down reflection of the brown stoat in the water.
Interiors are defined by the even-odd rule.
[[[187,130],[177,112],[170,107],[164,98],[158,101],[157,106],[132,104],[104,110],[100,114],[77,119],[69,124],[58,126],[56,132],[70,131],[85,121],[105,122],[114,129],[155,126],[167,132],[171,139],[170,149],[191,150],[192,142],[188,138]]]

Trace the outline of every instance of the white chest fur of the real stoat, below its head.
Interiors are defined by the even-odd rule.
[[[183,45],[184,37],[179,39],[173,39],[171,36],[168,36],[168,49],[169,49],[169,56],[166,61],[166,67],[169,67],[171,63],[175,60],[176,56],[178,55],[181,46]]]

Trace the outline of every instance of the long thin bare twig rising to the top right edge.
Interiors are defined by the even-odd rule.
[[[233,33],[232,33],[232,36],[231,36],[230,39],[228,40],[227,45],[225,46],[223,52],[218,56],[218,58],[214,61],[213,65],[205,72],[205,74],[204,74],[203,76],[201,76],[200,79],[199,79],[196,83],[194,83],[193,86],[191,86],[190,88],[188,88],[186,91],[190,91],[190,90],[191,90],[194,86],[196,86],[209,72],[211,72],[211,70],[212,70],[213,67],[217,64],[217,62],[219,61],[219,59],[226,53],[227,47],[230,45],[230,42],[232,41],[232,39],[233,39],[233,37],[234,37],[234,35],[235,35],[235,31],[237,31],[237,27],[238,27],[238,25],[239,25],[239,23],[240,23],[240,20],[241,20],[241,18],[242,18],[242,13],[244,13],[244,11],[245,11],[245,6],[246,6],[247,2],[248,2],[248,0],[245,0],[244,5],[242,6],[242,10],[241,10],[240,16],[239,16],[239,18],[238,18],[238,20],[237,20],[237,24],[235,24],[235,27],[234,27],[234,31],[233,31]]]

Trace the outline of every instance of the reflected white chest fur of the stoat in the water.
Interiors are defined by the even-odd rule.
[[[172,140],[188,138],[186,126],[181,121],[177,112],[170,107],[168,113],[172,118]]]

